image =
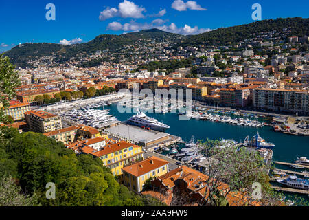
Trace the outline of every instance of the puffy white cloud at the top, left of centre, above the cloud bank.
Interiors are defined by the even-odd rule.
[[[112,17],[140,19],[144,17],[143,12],[146,12],[144,7],[135,5],[132,1],[124,0],[124,2],[119,3],[118,9],[108,7],[100,12],[99,19],[100,21],[104,21]]]

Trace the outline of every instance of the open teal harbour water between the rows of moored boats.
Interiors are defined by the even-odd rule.
[[[124,121],[135,113],[119,113],[117,104],[112,104],[106,109],[110,109],[110,113],[115,117]],[[262,128],[235,126],[222,122],[211,122],[207,120],[196,120],[194,118],[181,121],[176,113],[146,113],[152,118],[156,118],[159,122],[168,124],[170,129],[166,133],[180,136],[184,141],[189,141],[192,135],[196,140],[209,139],[233,139],[237,142],[243,141],[245,137],[253,137],[257,132],[267,142],[275,144],[273,160],[282,162],[294,162],[296,157],[304,156],[309,158],[309,137],[286,135],[273,131],[270,126]]]

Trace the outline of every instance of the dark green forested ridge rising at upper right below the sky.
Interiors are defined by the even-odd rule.
[[[250,39],[252,34],[270,32],[288,28],[288,36],[309,35],[309,19],[301,17],[287,19],[269,19],[256,21],[247,25],[238,25],[230,28],[218,28],[211,32],[190,36],[184,41],[186,45],[229,45]]]

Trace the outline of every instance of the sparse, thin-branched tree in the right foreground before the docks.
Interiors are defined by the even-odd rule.
[[[258,152],[247,151],[246,148],[238,148],[230,146],[226,148],[220,147],[219,140],[207,140],[199,144],[201,153],[206,156],[205,174],[209,176],[207,179],[207,189],[209,197],[203,205],[214,205],[225,203],[227,193],[229,192],[247,192],[252,195],[253,182],[258,182],[262,186],[262,199],[260,200],[265,206],[277,206],[278,195],[271,189],[270,179],[266,173],[268,167],[263,162]],[[228,192],[218,195],[218,186],[229,185]],[[255,200],[247,196],[248,203]],[[248,205],[245,203],[237,203],[237,206]],[[232,206],[233,204],[229,204]],[[235,204],[234,204],[235,205]]]

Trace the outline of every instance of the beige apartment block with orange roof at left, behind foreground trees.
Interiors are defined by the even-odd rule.
[[[27,111],[25,112],[25,120],[30,131],[34,132],[48,133],[62,129],[61,118],[45,111]]]

